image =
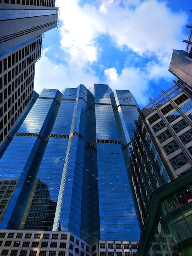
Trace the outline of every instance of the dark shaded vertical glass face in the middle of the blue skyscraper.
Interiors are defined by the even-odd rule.
[[[100,239],[94,102],[93,94],[87,91],[85,139],[89,145],[84,154],[80,237],[90,245]]]

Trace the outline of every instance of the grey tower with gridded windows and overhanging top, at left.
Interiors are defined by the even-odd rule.
[[[0,145],[33,97],[42,33],[57,26],[55,0],[0,0]]]

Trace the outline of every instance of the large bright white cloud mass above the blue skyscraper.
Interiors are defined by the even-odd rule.
[[[56,54],[57,50],[46,49],[36,64],[38,92],[45,87],[62,91],[80,83],[88,88],[93,83],[107,83],[113,90],[130,90],[139,103],[145,104],[149,81],[171,77],[167,69],[172,49],[184,48],[182,39],[186,36],[182,29],[187,23],[187,14],[173,13],[165,2],[158,0],[93,0],[81,5],[79,2],[56,0],[61,7],[60,47],[67,63],[53,63],[47,52]],[[122,51],[129,49],[151,59],[144,67],[135,68],[127,58],[129,63],[124,63],[123,70],[118,72],[116,63],[109,62],[106,67],[100,59],[103,50],[98,41],[100,35],[110,36]],[[96,68],[100,77],[96,75]]]

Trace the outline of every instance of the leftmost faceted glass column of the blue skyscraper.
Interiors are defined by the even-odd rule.
[[[58,91],[54,90],[53,94],[58,99]],[[39,98],[20,126],[19,135],[13,138],[0,159],[2,179],[19,179],[1,220],[1,228],[18,229],[20,226],[46,148],[46,142],[40,137],[51,130],[58,108],[54,99]],[[30,134],[34,136],[27,136]]]

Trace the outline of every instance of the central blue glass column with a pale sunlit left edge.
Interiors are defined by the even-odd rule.
[[[70,93],[72,95],[72,92]],[[64,97],[67,97],[65,90]],[[85,150],[87,88],[79,85],[71,114],[71,130],[63,168],[53,230],[71,231],[80,236],[81,204]]]

